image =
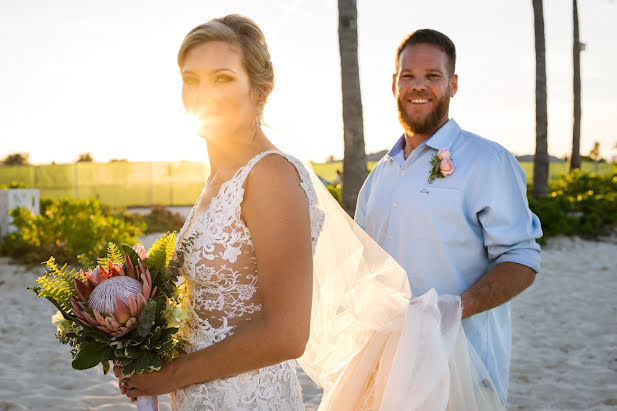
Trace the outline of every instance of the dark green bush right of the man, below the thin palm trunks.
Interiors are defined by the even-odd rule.
[[[617,226],[617,168],[609,175],[577,170],[549,184],[549,195],[529,198],[544,237],[598,237]]]

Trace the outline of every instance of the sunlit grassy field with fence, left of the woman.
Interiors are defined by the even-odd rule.
[[[97,198],[114,206],[192,205],[210,174],[201,162],[0,166],[0,184],[38,188],[41,197]]]

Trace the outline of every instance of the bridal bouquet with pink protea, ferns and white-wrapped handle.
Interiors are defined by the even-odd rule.
[[[73,368],[100,363],[107,374],[111,361],[129,377],[158,371],[184,352],[177,336],[186,319],[177,285],[183,253],[172,259],[174,245],[175,234],[167,233],[147,252],[141,244],[109,243],[96,263],[82,254],[79,270],[58,268],[54,257],[45,263],[31,290],[58,309],[52,323],[60,342],[73,347]],[[137,408],[156,410],[157,398],[139,397]]]

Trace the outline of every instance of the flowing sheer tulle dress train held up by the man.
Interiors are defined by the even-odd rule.
[[[311,174],[314,181],[317,177]],[[298,362],[324,394],[320,410],[504,409],[467,343],[460,297],[412,298],[405,271],[321,184],[311,334]]]

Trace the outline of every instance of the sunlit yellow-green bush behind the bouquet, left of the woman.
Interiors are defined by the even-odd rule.
[[[103,255],[108,242],[135,244],[145,228],[111,214],[98,200],[42,199],[41,213],[16,208],[10,211],[17,230],[2,239],[4,255],[26,263],[50,256],[76,264],[77,256],[91,260]]]

